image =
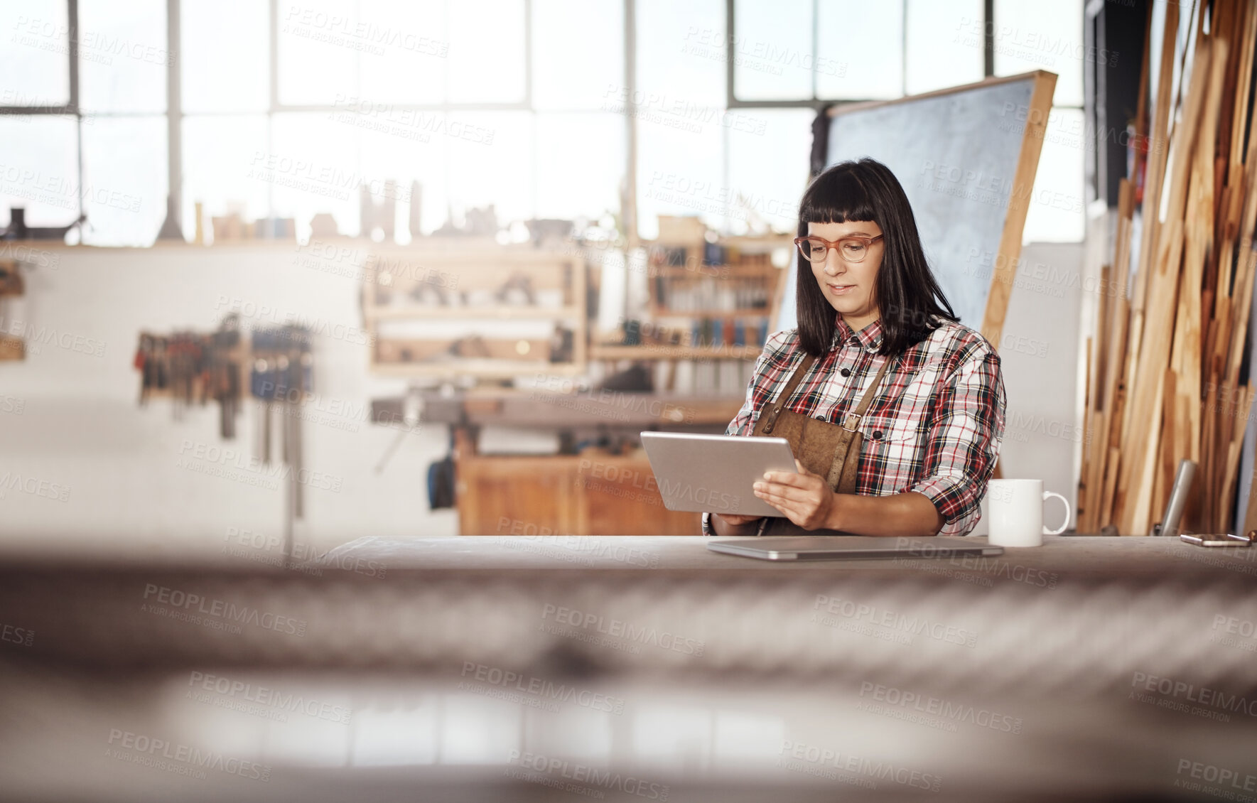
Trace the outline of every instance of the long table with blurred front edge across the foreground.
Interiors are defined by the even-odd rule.
[[[1257,784],[1257,549],[1060,537],[985,562],[789,565],[704,542],[361,539],[287,569],[0,563],[0,623],[34,633],[0,645],[3,687],[21,690],[0,783],[92,797],[108,778],[128,799],[165,780],[97,755],[119,730],[274,769],[273,784],[171,780],[165,799],[219,782],[259,800],[351,782],[362,799],[642,797],[600,785],[611,772],[670,800]],[[280,723],[234,686],[353,718]]]

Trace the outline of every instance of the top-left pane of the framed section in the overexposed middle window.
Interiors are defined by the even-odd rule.
[[[331,104],[357,94],[358,34],[352,0],[303,0],[279,9],[279,102]]]

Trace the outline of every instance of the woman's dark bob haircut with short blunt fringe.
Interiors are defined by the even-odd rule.
[[[938,328],[931,315],[955,320],[934,279],[904,187],[881,162],[838,162],[817,176],[798,205],[798,236],[810,222],[871,221],[881,226],[882,258],[874,289],[881,313],[882,354],[901,354]],[[799,344],[810,354],[830,351],[837,328],[833,307],[816,284],[812,265],[798,258],[796,310]]]

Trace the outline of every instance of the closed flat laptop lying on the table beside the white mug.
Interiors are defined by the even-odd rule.
[[[953,558],[1004,553],[977,538],[871,538],[867,535],[801,535],[797,538],[734,538],[708,542],[708,549],[760,560],[887,560]]]

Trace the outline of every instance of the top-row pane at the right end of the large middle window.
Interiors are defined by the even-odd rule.
[[[622,0],[533,0],[533,106],[596,109],[623,85]]]

